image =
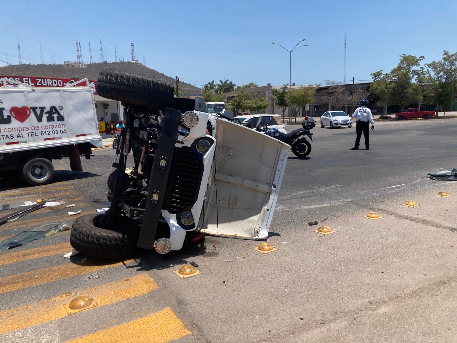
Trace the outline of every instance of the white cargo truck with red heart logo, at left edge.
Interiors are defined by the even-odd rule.
[[[82,171],[80,155],[102,146],[87,79],[47,88],[0,79],[0,177],[42,185],[53,178],[52,160],[69,157]]]

